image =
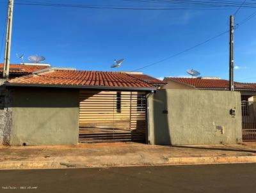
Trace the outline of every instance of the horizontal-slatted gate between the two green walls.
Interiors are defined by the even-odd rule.
[[[136,141],[145,143],[145,93],[80,91],[79,142]]]

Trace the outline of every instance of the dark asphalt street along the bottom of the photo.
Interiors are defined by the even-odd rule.
[[[256,164],[0,171],[0,192],[256,192]]]

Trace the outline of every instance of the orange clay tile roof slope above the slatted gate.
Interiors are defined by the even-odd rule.
[[[93,72],[79,70],[51,70],[25,75],[9,81],[15,84],[54,84],[79,86],[111,86],[127,88],[154,88],[152,84],[122,72]]]

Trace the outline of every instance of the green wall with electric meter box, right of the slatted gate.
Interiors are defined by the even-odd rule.
[[[152,144],[241,142],[242,118],[239,92],[158,89],[148,100],[149,139]],[[234,107],[236,107],[236,117],[232,118],[230,109]],[[164,114],[164,110],[167,110],[168,114]]]

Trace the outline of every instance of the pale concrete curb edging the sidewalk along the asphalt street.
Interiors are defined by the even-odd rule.
[[[177,166],[177,165],[205,165],[205,164],[246,164],[256,163],[256,156],[233,156],[233,157],[172,157],[167,158],[167,161],[162,163],[138,163],[132,164],[90,164],[86,165],[83,162],[70,162],[67,160],[63,161],[3,161],[0,162],[1,170],[10,169],[70,169],[70,168],[93,168],[93,167],[131,167],[131,166]]]

